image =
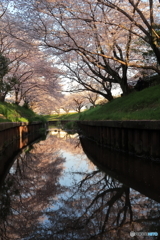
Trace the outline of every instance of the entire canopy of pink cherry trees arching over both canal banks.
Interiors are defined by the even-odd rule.
[[[0,1],[0,101],[49,111],[64,85],[109,101],[116,84],[128,94],[131,77],[160,74],[159,9],[158,0]]]

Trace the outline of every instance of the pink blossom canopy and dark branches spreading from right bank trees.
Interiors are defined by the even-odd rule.
[[[157,3],[30,0],[24,6],[18,0],[15,5],[18,23],[15,21],[10,34],[32,46],[39,45],[41,50],[61,60],[68,59],[65,66],[83,88],[93,90],[89,81],[82,78],[85,74],[105,87],[106,98],[112,100],[112,83],[121,86],[123,95],[130,92],[127,80],[133,69],[160,73]],[[14,30],[17,28],[18,34]],[[25,32],[23,37],[21,31]],[[149,50],[155,58],[147,63],[143,56]]]

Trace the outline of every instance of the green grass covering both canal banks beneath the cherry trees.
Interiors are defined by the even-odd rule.
[[[0,103],[0,122],[52,120],[160,120],[160,85],[132,92],[81,113],[40,116],[16,104]]]

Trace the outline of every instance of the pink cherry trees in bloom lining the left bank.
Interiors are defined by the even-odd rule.
[[[10,5],[10,8],[13,6]],[[45,101],[48,99],[48,102],[50,98],[59,98],[60,70],[54,66],[54,60],[39,47],[22,42],[9,34],[14,24],[12,25],[6,13],[3,14],[1,22],[1,101],[4,101],[8,94],[11,99],[15,99],[16,104],[30,104],[34,99],[41,105],[43,98]],[[18,27],[16,30],[17,34],[22,35]]]

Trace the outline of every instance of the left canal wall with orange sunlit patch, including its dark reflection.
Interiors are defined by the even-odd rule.
[[[47,124],[0,123],[0,183],[20,149],[42,136]]]

